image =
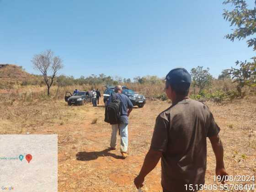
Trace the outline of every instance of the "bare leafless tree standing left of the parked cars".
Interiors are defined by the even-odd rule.
[[[59,69],[64,67],[62,60],[59,58],[59,56],[54,56],[51,50],[46,50],[40,54],[34,55],[31,62],[34,69],[37,69],[42,73],[44,82],[47,85],[47,93],[49,96],[50,88],[53,85],[57,72]]]

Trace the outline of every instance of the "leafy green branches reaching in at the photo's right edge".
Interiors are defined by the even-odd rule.
[[[234,26],[233,32],[225,37],[232,42],[235,39],[244,40],[245,38],[254,35],[256,32],[256,1],[254,7],[248,8],[246,0],[225,0],[224,5],[232,4],[235,9],[232,11],[224,10],[223,16],[226,21],[231,22],[230,26]],[[248,47],[253,47],[256,50],[256,38],[247,40]],[[241,95],[241,89],[245,85],[256,86],[256,57],[252,57],[252,62],[236,61],[238,69],[231,68],[229,74],[232,75],[234,82],[238,83],[237,90]]]

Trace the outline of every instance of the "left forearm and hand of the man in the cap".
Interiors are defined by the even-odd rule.
[[[162,156],[161,151],[155,151],[153,149],[149,149],[147,153],[142,168],[139,172],[139,176],[134,179],[134,184],[139,189],[139,187],[143,186],[144,178],[152,171],[157,165],[158,161]]]

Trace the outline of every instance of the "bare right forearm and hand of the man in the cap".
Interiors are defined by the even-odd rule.
[[[221,182],[222,184],[224,184],[225,180],[223,179],[223,177],[228,175],[228,173],[225,169],[224,161],[223,161],[223,156],[224,156],[223,145],[219,138],[219,134],[209,137],[209,139],[211,141],[213,152],[216,157],[216,170],[215,170],[216,176],[221,176]]]

